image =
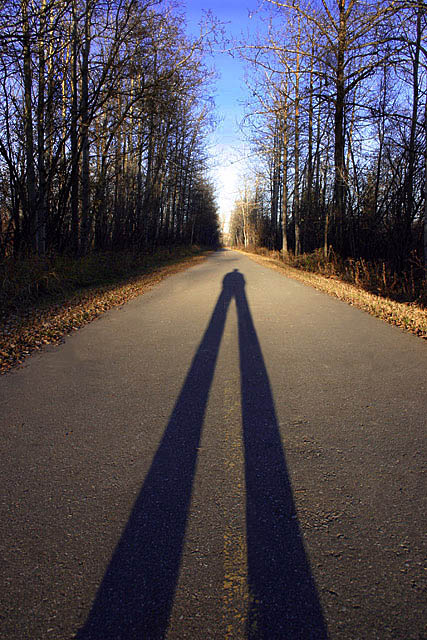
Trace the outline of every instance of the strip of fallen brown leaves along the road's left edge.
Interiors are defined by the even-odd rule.
[[[20,365],[46,344],[57,344],[64,336],[91,322],[105,311],[123,305],[152,289],[167,276],[205,260],[205,254],[175,258],[172,264],[145,268],[147,273],[120,283],[86,287],[73,293],[52,295],[34,304],[14,306],[3,314],[0,328],[0,374]],[[173,257],[164,257],[171,262]],[[157,265],[162,258],[157,258]]]

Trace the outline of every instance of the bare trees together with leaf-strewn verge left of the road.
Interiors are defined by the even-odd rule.
[[[0,370],[203,259],[213,19],[163,0],[0,6]]]

